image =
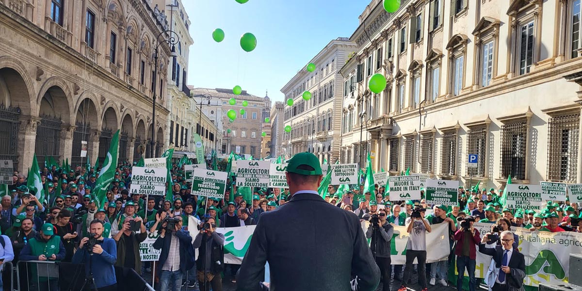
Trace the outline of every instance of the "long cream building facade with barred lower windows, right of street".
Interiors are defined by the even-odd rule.
[[[403,0],[389,14],[371,1],[341,69],[343,161],[370,152],[376,171],[464,186],[580,183],[580,2]]]

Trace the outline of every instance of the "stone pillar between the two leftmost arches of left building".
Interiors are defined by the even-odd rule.
[[[20,130],[17,136],[19,151],[19,166],[17,170],[24,173],[33,164],[33,156],[36,147],[37,126],[40,125],[40,118],[34,116],[24,116],[20,119]],[[28,173],[24,173],[27,175]]]

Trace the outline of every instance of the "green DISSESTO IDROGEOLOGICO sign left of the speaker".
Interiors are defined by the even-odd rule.
[[[228,173],[226,172],[212,171],[202,168],[194,169],[191,194],[224,198],[227,175]]]

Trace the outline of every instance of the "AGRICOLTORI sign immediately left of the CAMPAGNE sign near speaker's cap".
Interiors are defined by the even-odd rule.
[[[268,161],[236,161],[236,186],[267,188],[271,184]]]

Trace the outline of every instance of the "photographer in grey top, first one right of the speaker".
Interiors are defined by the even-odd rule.
[[[382,290],[384,291],[390,290],[390,277],[392,275],[390,242],[394,234],[394,227],[386,221],[387,215],[388,212],[385,209],[379,210],[378,214],[371,215],[370,226],[368,226],[368,230],[365,232],[365,237],[372,239],[370,248],[382,274]]]

